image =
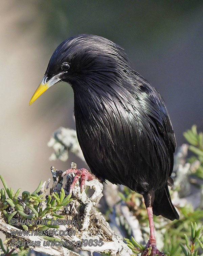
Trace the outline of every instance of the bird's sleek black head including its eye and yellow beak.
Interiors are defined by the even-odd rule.
[[[63,41],[52,54],[45,75],[30,99],[32,104],[43,92],[59,81],[74,85],[95,83],[129,67],[122,48],[95,35],[77,35]]]

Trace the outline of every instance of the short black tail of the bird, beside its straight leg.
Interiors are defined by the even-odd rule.
[[[179,215],[176,212],[175,207],[172,204],[171,196],[168,190],[168,185],[166,184],[163,197],[160,200],[161,195],[155,192],[155,199],[152,205],[153,213],[155,215],[162,215],[170,220],[179,219]]]

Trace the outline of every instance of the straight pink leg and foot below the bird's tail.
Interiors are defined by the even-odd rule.
[[[156,254],[158,256],[165,256],[162,252],[160,252],[156,247],[156,238],[154,234],[154,220],[153,220],[153,211],[152,206],[147,207],[147,213],[149,217],[149,223],[150,223],[150,239],[148,240],[146,244],[146,249],[144,250],[142,256],[151,255],[155,256]]]

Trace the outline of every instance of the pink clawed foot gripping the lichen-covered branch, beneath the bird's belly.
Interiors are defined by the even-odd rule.
[[[73,178],[72,184],[70,185],[69,193],[72,193],[75,183],[79,180],[80,177],[81,177],[81,193],[85,187],[85,181],[97,179],[96,176],[94,176],[92,173],[90,173],[85,168],[81,168],[81,169],[70,168],[70,169],[67,169],[66,171],[64,171],[61,176],[63,177],[66,174],[69,174],[71,172],[75,173],[76,175]]]

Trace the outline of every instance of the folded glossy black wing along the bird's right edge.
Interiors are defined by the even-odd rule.
[[[137,93],[139,97],[137,97],[136,100],[139,102],[147,117],[152,134],[155,135],[156,138],[159,138],[159,141],[157,141],[157,150],[162,151],[160,160],[166,161],[165,164],[170,165],[168,176],[171,176],[176,139],[164,100],[159,92],[144,79],[140,79],[136,88],[136,90],[139,91],[139,93]],[[148,133],[148,131],[145,130],[145,133]],[[164,153],[166,157],[164,157]]]

